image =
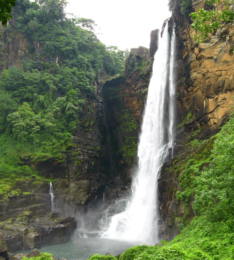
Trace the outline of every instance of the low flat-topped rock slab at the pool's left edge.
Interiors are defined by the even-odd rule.
[[[13,219],[14,220],[14,219]],[[62,244],[68,242],[77,228],[75,218],[33,218],[32,212],[25,212],[17,220],[8,220],[2,224],[0,233],[8,251],[19,251],[23,248],[41,248],[45,244]]]

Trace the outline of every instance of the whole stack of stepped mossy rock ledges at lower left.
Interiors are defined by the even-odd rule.
[[[68,242],[77,228],[77,221],[71,217],[64,218],[65,214],[61,212],[51,214],[49,182],[31,178],[17,181],[17,187],[21,190],[1,196],[0,234],[4,242],[0,245],[6,244],[7,250],[14,252],[23,248],[40,248],[49,243]],[[1,252],[4,252],[3,249]]]

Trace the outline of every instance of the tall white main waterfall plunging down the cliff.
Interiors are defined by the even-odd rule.
[[[102,237],[159,242],[157,180],[160,167],[171,159],[168,149],[174,144],[175,33],[170,35],[167,23],[162,38],[159,38],[138,144],[139,170],[132,180],[132,198],[124,212],[111,218]]]

